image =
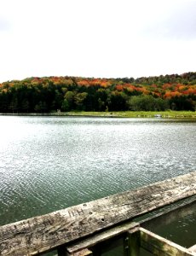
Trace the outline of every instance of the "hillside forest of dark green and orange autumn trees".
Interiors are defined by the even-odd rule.
[[[196,110],[196,73],[148,78],[45,77],[0,84],[1,113]]]

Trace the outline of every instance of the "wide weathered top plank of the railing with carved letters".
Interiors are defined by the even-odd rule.
[[[196,172],[0,227],[0,255],[36,255],[196,194]]]

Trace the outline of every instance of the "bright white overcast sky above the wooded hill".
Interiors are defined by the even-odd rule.
[[[196,0],[0,0],[0,82],[196,71]]]

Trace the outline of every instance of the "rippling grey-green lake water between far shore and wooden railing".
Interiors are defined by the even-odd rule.
[[[195,171],[195,149],[194,121],[0,116],[0,224]]]

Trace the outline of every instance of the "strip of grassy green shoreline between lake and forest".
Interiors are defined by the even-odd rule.
[[[52,112],[52,113],[0,113],[3,116],[56,116],[56,117],[106,117],[106,118],[163,118],[196,119],[194,111],[112,111],[112,112]]]

